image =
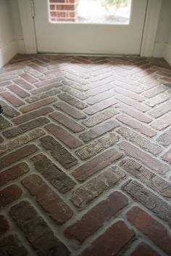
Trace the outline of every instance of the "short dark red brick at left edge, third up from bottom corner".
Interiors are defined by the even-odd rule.
[[[9,205],[22,195],[22,190],[17,185],[7,186],[0,191],[0,207]]]

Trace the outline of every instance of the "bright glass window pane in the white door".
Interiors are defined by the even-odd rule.
[[[131,0],[49,0],[50,22],[129,24]]]

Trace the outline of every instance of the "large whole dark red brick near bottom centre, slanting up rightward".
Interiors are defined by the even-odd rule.
[[[83,215],[81,220],[69,226],[64,231],[64,234],[74,237],[82,243],[88,236],[91,236],[91,234],[103,226],[107,220],[117,215],[127,204],[128,198],[122,193],[115,191],[110,194],[107,199],[101,201],[98,205],[89,210],[86,215]]]

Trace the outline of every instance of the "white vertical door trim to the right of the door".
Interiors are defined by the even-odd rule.
[[[152,57],[154,54],[154,44],[157,35],[161,7],[162,0],[148,1],[140,52],[142,57]]]

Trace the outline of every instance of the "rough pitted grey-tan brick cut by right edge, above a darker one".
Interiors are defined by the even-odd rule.
[[[154,191],[157,191],[163,197],[171,198],[171,184],[152,173],[150,170],[144,168],[138,162],[128,160],[124,165],[122,165],[122,168],[135,178],[138,178],[143,184],[146,184]]]

